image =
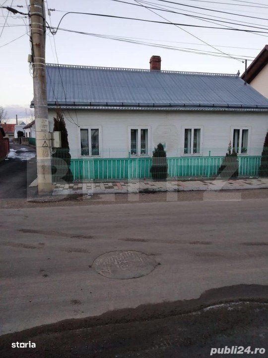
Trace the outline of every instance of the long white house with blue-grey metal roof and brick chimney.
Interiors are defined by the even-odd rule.
[[[109,158],[129,158],[132,163],[147,159],[160,142],[168,158],[181,158],[174,164],[179,166],[175,174],[184,158],[191,158],[193,164],[197,158],[204,163],[204,158],[224,156],[230,141],[239,156],[261,155],[268,129],[266,97],[245,85],[239,74],[161,71],[160,67],[159,56],[151,57],[148,70],[47,64],[50,130],[55,109],[61,106],[72,170],[78,170],[79,178],[85,170],[82,179],[91,178],[89,165],[98,159],[98,175],[93,179],[105,175],[120,179],[127,167],[121,163],[119,168],[117,162],[111,169]],[[142,178],[144,171],[148,173],[144,168],[140,173],[134,169],[135,175]],[[170,176],[177,176],[174,173]]]

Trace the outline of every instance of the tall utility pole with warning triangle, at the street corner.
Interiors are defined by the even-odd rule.
[[[30,0],[30,27],[36,128],[38,194],[52,192],[51,152],[48,121],[44,0]]]

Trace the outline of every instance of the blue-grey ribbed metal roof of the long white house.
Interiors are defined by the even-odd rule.
[[[268,108],[238,75],[47,64],[49,106]],[[171,108],[170,108],[171,109]]]

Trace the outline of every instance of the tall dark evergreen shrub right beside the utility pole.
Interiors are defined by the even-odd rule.
[[[61,132],[62,147],[55,148],[55,153],[52,154],[52,174],[57,175],[59,179],[71,182],[73,181],[72,173],[70,170],[70,149],[68,143],[68,132],[61,108],[57,108],[56,117],[54,119],[54,132]]]

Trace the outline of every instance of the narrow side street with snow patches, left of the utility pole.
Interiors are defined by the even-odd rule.
[[[9,158],[0,161],[0,199],[26,198],[27,184],[36,178],[35,149],[10,144]]]

